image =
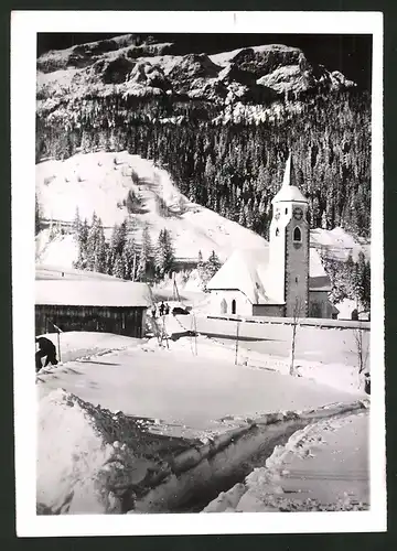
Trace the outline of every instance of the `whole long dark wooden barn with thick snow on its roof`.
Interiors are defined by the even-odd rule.
[[[122,280],[36,280],[35,333],[95,331],[142,338],[150,290]]]

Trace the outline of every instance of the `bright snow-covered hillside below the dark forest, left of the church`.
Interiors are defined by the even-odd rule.
[[[176,190],[165,170],[138,155],[97,152],[36,165],[41,215],[55,226],[71,224],[78,207],[81,218],[87,218],[88,223],[95,210],[110,237],[114,225],[128,217],[124,202],[130,190],[141,199],[139,212],[130,216],[136,224],[136,240],[140,240],[146,223],[153,242],[160,230],[167,228],[176,258],[196,259],[201,250],[206,259],[215,250],[224,261],[235,248],[266,245],[254,231],[191,203]],[[72,235],[57,235],[50,241],[49,230],[42,230],[36,238],[36,259],[42,263],[69,266],[76,252]]]

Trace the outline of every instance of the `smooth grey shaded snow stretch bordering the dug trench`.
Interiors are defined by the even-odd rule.
[[[144,346],[71,361],[52,374],[41,374],[37,387],[40,396],[61,387],[110,410],[198,430],[215,429],[219,422],[214,421],[226,415],[352,401],[351,393],[312,380]]]

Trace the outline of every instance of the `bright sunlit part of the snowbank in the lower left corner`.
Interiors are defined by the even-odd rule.
[[[104,412],[62,389],[40,401],[39,511],[120,512],[121,499],[112,483],[125,468],[120,455],[126,457],[111,445],[107,431]]]

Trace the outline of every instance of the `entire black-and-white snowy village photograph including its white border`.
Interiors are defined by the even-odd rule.
[[[21,532],[385,529],[382,14],[13,15]]]

